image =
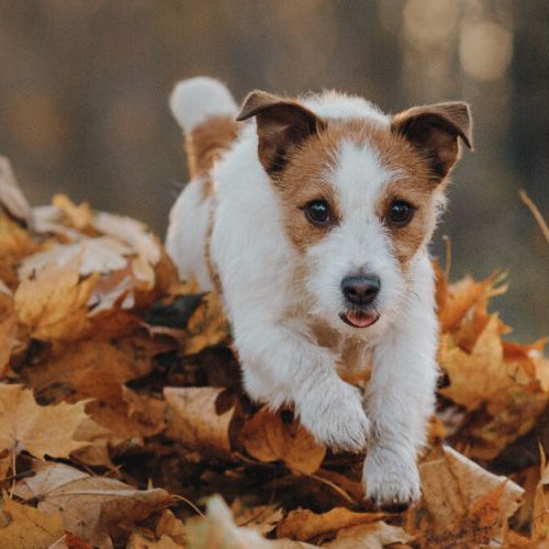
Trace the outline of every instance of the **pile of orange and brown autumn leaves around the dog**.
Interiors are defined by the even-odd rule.
[[[31,209],[0,159],[0,547],[544,546],[542,451],[512,456],[513,480],[488,470],[549,400],[542,343],[502,339],[488,313],[504,290],[439,272],[424,497],[377,513],[362,457],[242,394],[219,302],[142,223],[63,195]]]

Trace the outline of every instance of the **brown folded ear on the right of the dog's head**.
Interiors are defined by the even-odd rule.
[[[458,137],[472,149],[471,125],[469,105],[456,101],[401,112],[394,116],[391,130],[426,155],[438,182],[458,161]]]

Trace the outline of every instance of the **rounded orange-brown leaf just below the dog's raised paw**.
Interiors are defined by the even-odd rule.
[[[243,427],[240,444],[259,461],[283,461],[291,470],[312,474],[318,470],[326,448],[298,422],[284,423],[280,414],[262,407]]]

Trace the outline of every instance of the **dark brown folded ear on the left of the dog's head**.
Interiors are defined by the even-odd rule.
[[[259,160],[269,175],[281,171],[288,153],[326,124],[298,101],[266,91],[249,93],[236,120],[251,116],[256,116]]]

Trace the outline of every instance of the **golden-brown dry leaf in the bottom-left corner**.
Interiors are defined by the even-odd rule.
[[[0,511],[0,547],[44,549],[65,534],[61,514],[43,513],[4,496]]]

